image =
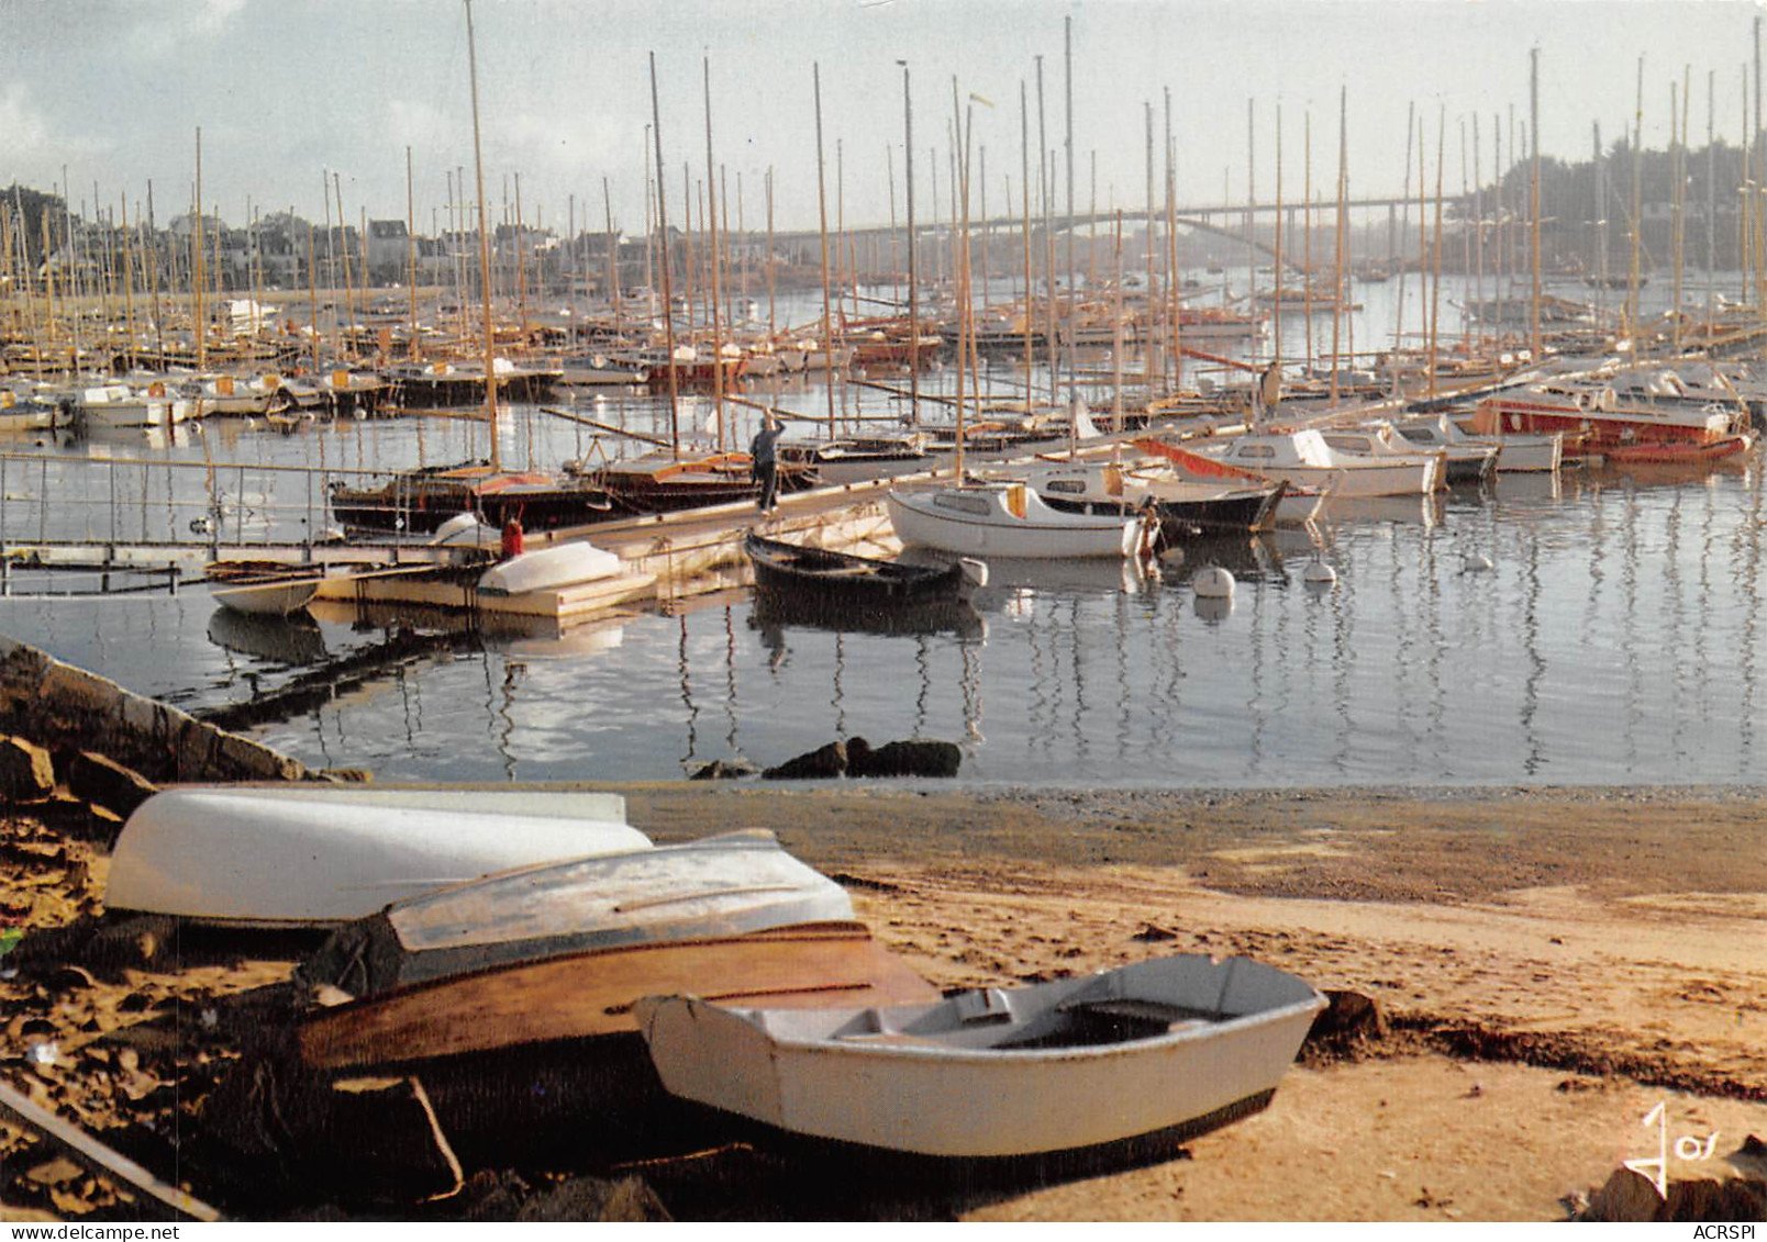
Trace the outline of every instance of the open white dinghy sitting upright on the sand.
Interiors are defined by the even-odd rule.
[[[1011,1159],[1256,1111],[1323,1007],[1274,966],[1184,954],[887,1009],[652,996],[638,1023],[673,1095],[795,1136]]]

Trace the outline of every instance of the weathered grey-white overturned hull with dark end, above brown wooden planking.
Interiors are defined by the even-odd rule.
[[[841,885],[765,829],[539,864],[398,901],[346,924],[300,966],[352,996],[565,952],[841,922]]]

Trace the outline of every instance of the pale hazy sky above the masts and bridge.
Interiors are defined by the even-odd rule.
[[[891,219],[903,208],[903,71],[914,94],[915,201],[931,216],[937,164],[949,214],[952,78],[972,131],[972,210],[981,168],[1000,214],[1021,196],[1021,87],[1037,177],[1035,57],[1043,57],[1043,140],[1066,138],[1064,19],[1073,19],[1074,205],[1145,201],[1145,113],[1163,148],[1172,92],[1179,201],[1242,201],[1276,189],[1278,108],[1283,186],[1304,180],[1311,113],[1313,184],[1329,196],[1346,99],[1352,194],[1398,194],[1407,175],[1407,110],[1426,118],[1428,180],[1445,117],[1445,187],[1474,161],[1505,163],[1511,110],[1528,115],[1528,51],[1541,62],[1541,150],[1587,159],[1592,122],[1612,141],[1634,118],[1643,55],[1643,141],[1663,147],[1684,74],[1689,136],[1703,145],[1709,72],[1721,140],[1739,141],[1744,62],[1767,11],[1748,0],[474,0],[486,200],[493,221],[519,175],[527,223],[603,228],[603,178],[615,224],[645,219],[656,53],[666,198],[680,223],[682,164],[707,173],[705,64],[712,152],[742,219],[765,226],[774,168],[779,228],[816,226],[815,67],[820,65],[829,221]],[[337,173],[350,221],[403,217],[406,147],[419,231],[445,224],[447,171],[470,189],[472,106],[461,0],[0,0],[0,186],[58,189],[72,201],[127,198],[131,217],[154,184],[163,224],[187,210],[201,129],[203,201],[230,224],[293,208],[325,217],[322,186]],[[1248,101],[1253,117],[1248,155]],[[990,106],[991,104],[991,106]],[[1461,125],[1467,140],[1461,141]],[[1502,131],[1500,136],[1493,131]],[[839,161],[838,161],[839,145]],[[887,154],[891,148],[891,154]],[[937,148],[937,155],[935,155]],[[1412,154],[1415,161],[1415,154]],[[1066,163],[1057,163],[1057,212]],[[839,177],[838,177],[839,170]],[[1156,173],[1156,178],[1159,173]],[[95,184],[95,189],[94,189]],[[838,196],[838,187],[843,191]],[[694,191],[698,193],[698,189]],[[1415,193],[1415,186],[1414,191]],[[468,193],[456,187],[456,198]],[[574,198],[574,205],[573,205]],[[336,205],[332,205],[336,212]],[[737,223],[737,203],[730,221]]]

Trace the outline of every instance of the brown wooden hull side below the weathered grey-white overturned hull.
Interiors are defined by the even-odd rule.
[[[857,922],[573,952],[320,1009],[300,1023],[316,1069],[396,1065],[633,1035],[643,996],[693,991],[770,1007],[931,1003],[938,991]]]

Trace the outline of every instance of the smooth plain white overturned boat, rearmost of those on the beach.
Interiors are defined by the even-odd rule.
[[[104,905],[322,926],[493,871],[648,844],[604,793],[193,786],[124,823]]]

